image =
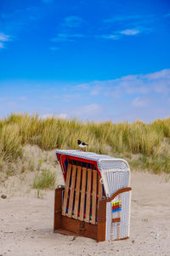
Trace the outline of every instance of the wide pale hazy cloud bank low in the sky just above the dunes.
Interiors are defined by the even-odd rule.
[[[6,88],[7,84],[2,84],[2,87]],[[18,86],[19,82],[16,84]],[[135,119],[150,122],[169,116],[170,69],[127,75],[119,79],[95,80],[85,84],[44,82],[39,84],[36,90],[36,84],[32,82],[31,85],[26,85],[30,92],[26,90],[26,94],[22,90],[22,94],[17,96],[14,96],[15,87],[12,84],[9,86],[11,90],[8,97],[0,97],[3,114],[23,110],[34,113],[35,109],[38,109],[38,113],[46,117],[50,113],[62,118],[77,117],[99,121],[111,119],[114,122],[131,122]],[[22,84],[22,88],[26,86]],[[47,86],[48,90],[45,90]],[[36,102],[35,98],[32,98],[32,91],[37,95]]]

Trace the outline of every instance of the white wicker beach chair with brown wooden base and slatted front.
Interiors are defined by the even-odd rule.
[[[125,239],[130,227],[130,168],[125,160],[57,150],[65,186],[55,189],[54,232],[97,241]]]

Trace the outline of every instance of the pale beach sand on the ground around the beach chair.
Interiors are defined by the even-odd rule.
[[[170,182],[165,175],[132,172],[130,237],[104,242],[54,234],[54,191],[38,199],[33,189],[26,189],[32,174],[23,175],[14,193],[0,184],[0,195],[7,195],[0,198],[1,256],[170,255]]]

